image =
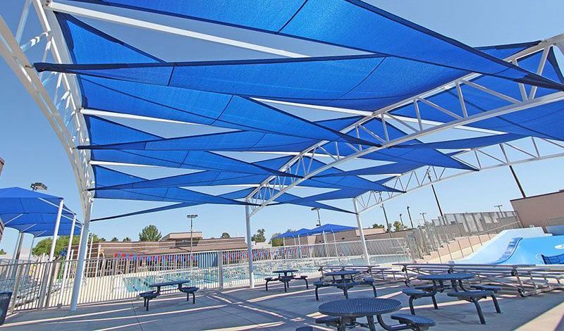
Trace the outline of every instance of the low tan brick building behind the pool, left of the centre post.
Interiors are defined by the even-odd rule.
[[[244,237],[233,238],[203,238],[202,232],[192,232],[190,245],[190,232],[171,232],[162,237],[158,242],[96,242],[88,245],[87,256],[115,257],[115,256],[141,256],[160,254],[190,253],[202,251],[228,251],[232,249],[246,249]],[[73,246],[75,252],[78,246]]]

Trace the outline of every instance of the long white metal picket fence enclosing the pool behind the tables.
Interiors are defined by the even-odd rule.
[[[372,264],[411,259],[403,238],[367,240]],[[246,249],[92,258],[85,261],[79,304],[132,299],[154,282],[190,280],[191,286],[217,289],[249,285]],[[320,275],[319,266],[364,264],[360,242],[337,242],[253,249],[257,284],[280,268]],[[0,266],[0,290],[11,291],[12,310],[67,306],[71,303],[76,260],[11,263]]]

